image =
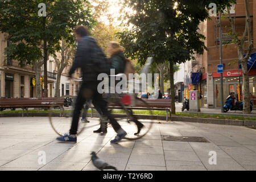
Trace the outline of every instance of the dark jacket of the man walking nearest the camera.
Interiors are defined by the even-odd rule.
[[[92,60],[92,47],[96,40],[89,36],[84,36],[77,44],[77,50],[72,67],[69,70],[71,76],[77,68],[81,68],[83,81],[97,81],[98,74],[94,70]]]

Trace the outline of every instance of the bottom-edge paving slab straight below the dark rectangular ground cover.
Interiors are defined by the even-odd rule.
[[[201,162],[166,160],[167,171],[206,171]]]

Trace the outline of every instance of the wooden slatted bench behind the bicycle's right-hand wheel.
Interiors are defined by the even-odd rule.
[[[143,101],[145,101],[148,106],[151,107],[151,110],[165,110],[166,111],[166,121],[168,121],[168,113],[170,113],[171,117],[171,99],[147,99],[142,98]],[[93,109],[94,106],[92,105],[92,117],[93,117]],[[119,106],[114,106],[114,104],[110,104],[109,109],[120,109]],[[127,106],[128,109],[134,109],[134,110],[147,110],[147,107],[144,107],[144,103],[137,101],[135,106]]]

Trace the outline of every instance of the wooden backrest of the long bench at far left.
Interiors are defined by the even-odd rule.
[[[64,98],[0,98],[0,106],[60,106],[64,105]]]

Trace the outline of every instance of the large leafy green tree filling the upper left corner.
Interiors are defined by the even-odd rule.
[[[39,3],[46,4],[46,16],[38,15]],[[62,38],[69,43],[74,42],[72,31],[75,26],[84,24],[90,28],[94,20],[87,0],[10,0],[0,1],[0,24],[0,31],[9,34],[13,43],[5,49],[8,57],[18,60],[20,65],[33,64],[36,73],[40,72],[41,63],[34,61],[43,59],[44,90],[47,90],[49,54],[54,55],[60,50]],[[38,78],[36,85],[40,85]],[[36,97],[40,97],[38,92]]]

